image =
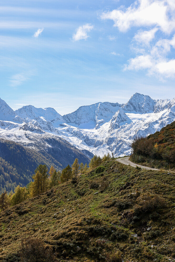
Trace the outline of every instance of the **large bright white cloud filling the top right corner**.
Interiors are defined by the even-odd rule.
[[[138,0],[124,9],[114,9],[101,15],[102,19],[111,19],[120,31],[132,26],[157,26],[163,32],[175,29],[174,0]]]

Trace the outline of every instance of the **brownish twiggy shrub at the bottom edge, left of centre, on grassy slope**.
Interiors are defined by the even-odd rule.
[[[22,262],[54,262],[56,261],[51,249],[45,249],[44,242],[39,238],[23,238],[20,247]]]

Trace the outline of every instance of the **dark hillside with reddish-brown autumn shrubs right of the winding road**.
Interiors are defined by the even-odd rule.
[[[175,121],[147,138],[135,139],[132,148],[131,161],[150,167],[175,170]]]

